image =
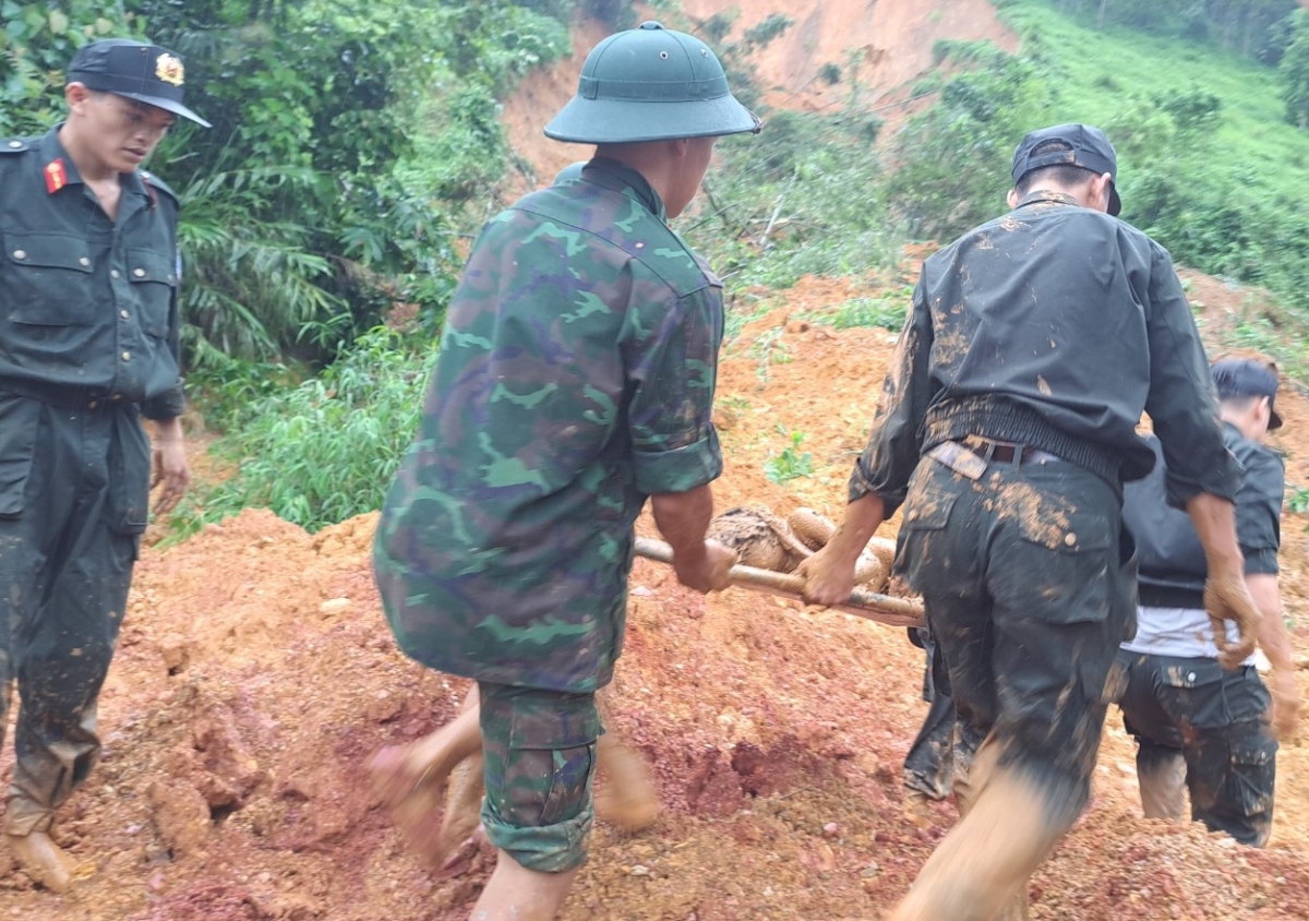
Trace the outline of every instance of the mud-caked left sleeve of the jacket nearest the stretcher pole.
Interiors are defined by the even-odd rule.
[[[914,304],[895,343],[890,372],[882,381],[868,445],[850,476],[848,500],[873,493],[885,503],[888,517],[905,502],[922,453],[923,421],[932,398],[931,351],[932,316],[924,270],[914,288]]]

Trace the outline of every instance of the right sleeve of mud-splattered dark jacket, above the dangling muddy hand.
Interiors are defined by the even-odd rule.
[[[1164,445],[1168,502],[1177,508],[1200,493],[1236,500],[1241,470],[1223,443],[1217,397],[1191,308],[1173,261],[1155,246],[1151,265],[1151,384],[1145,401]]]

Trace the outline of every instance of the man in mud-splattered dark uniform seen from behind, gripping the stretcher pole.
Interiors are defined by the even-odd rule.
[[[808,600],[847,597],[859,552],[905,506],[897,571],[954,698],[962,818],[893,921],[1022,917],[1028,875],[1086,803],[1136,607],[1121,515],[1122,483],[1155,462],[1143,411],[1206,549],[1206,607],[1241,626],[1224,660],[1254,646],[1240,472],[1168,253],[1111,216],[1115,172],[1097,128],[1035,131],[1012,211],[924,263],[846,520],[800,569]]]

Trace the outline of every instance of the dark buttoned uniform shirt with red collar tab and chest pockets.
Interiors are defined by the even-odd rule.
[[[181,415],[177,199],[132,173],[110,220],[58,131],[0,140],[0,392]]]

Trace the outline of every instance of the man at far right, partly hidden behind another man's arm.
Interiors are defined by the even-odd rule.
[[[1204,550],[1190,519],[1164,500],[1160,459],[1145,479],[1128,486],[1123,511],[1139,548],[1140,612],[1136,637],[1118,654],[1126,677],[1119,705],[1136,736],[1145,816],[1181,820],[1190,789],[1192,819],[1262,848],[1272,831],[1274,726],[1292,732],[1300,702],[1278,590],[1285,474],[1282,459],[1262,444],[1270,428],[1282,426],[1272,407],[1278,377],[1251,359],[1225,359],[1212,371],[1227,445],[1244,472],[1237,540],[1262,614],[1259,645],[1272,666],[1274,693],[1270,700],[1253,659],[1234,671],[1217,663],[1204,613]]]

